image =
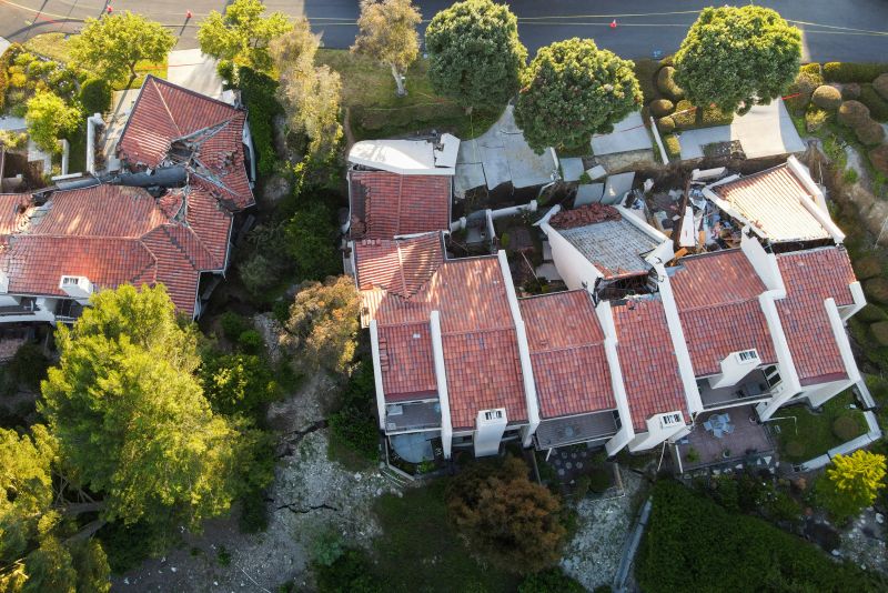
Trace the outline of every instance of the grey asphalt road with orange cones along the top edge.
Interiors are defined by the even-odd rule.
[[[425,22],[451,0],[414,0]],[[180,37],[180,49],[196,47],[200,19],[222,10],[225,0],[111,0],[113,10],[132,10],[158,20]],[[357,0],[265,0],[271,10],[305,14],[330,48],[354,39]],[[533,54],[559,39],[592,37],[625,58],[674,51],[688,26],[713,0],[512,0],[522,41]],[[740,2],[737,2],[740,3]],[[773,0],[758,2],[780,12],[804,31],[806,61],[888,59],[888,0]],[[48,31],[75,31],[98,17],[105,0],[0,0],[0,37],[21,41]],[[192,11],[191,19],[185,12]],[[616,19],[616,29],[609,23]]]

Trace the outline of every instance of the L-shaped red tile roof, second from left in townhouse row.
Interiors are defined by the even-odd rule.
[[[360,269],[361,255],[355,254]],[[379,288],[363,290],[362,295],[365,305],[372,302],[367,315],[380,330],[427,324],[432,311],[441,313],[454,429],[474,428],[477,412],[492,408],[505,408],[511,423],[527,420],[517,334],[498,258],[444,261],[408,298]]]

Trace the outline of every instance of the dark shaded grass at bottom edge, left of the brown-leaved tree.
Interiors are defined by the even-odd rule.
[[[519,579],[480,564],[451,526],[446,480],[376,501],[383,533],[374,541],[379,574],[387,591],[515,591]]]

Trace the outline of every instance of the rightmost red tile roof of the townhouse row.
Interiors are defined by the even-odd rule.
[[[777,255],[786,299],[777,301],[780,323],[803,385],[847,379],[824,301],[854,303],[848,284],[855,274],[848,252],[824,248]]]

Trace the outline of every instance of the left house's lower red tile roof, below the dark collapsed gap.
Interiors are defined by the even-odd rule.
[[[100,289],[162,283],[193,314],[201,272],[225,267],[231,224],[199,184],[160,199],[108,184],[56,191],[42,207],[32,202],[0,250],[0,267],[10,293],[62,296],[62,275]]]

